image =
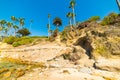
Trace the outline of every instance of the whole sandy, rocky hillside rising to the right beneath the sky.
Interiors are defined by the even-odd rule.
[[[115,20],[109,25],[86,21],[51,35],[50,41],[23,37],[14,43],[33,42],[1,42],[0,79],[120,80],[119,17]]]

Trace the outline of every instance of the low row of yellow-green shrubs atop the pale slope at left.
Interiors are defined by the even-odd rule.
[[[32,36],[32,37],[14,37],[14,36],[10,36],[10,37],[6,37],[4,38],[3,42],[8,43],[13,45],[14,47],[18,47],[21,45],[28,45],[28,44],[35,44],[36,42],[40,42],[40,41],[47,41],[47,36]]]

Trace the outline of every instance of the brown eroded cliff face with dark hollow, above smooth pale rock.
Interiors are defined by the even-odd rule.
[[[82,32],[86,33],[82,33]],[[74,45],[86,50],[90,58],[120,57],[120,27],[100,26],[90,27],[79,31],[81,33]]]

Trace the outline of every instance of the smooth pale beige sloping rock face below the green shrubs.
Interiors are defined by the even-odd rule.
[[[46,62],[64,53],[71,53],[70,47],[60,46],[58,44],[35,45],[18,48],[0,48],[0,57],[18,58],[34,62]]]

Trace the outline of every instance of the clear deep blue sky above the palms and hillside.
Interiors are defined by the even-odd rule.
[[[118,13],[116,0],[76,0],[76,21],[84,21],[91,16],[103,18],[110,12]],[[70,0],[0,0],[0,20],[10,21],[11,16],[24,17],[25,27],[29,28],[30,20],[34,20],[32,35],[47,35],[47,15],[51,14],[51,24],[55,17],[63,21],[61,30],[68,24],[66,18]],[[54,29],[54,26],[52,26]]]

